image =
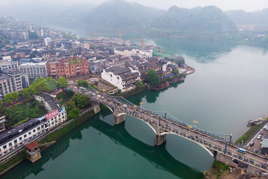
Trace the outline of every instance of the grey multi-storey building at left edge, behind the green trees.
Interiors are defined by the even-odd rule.
[[[24,88],[29,87],[28,75],[19,70],[1,70],[3,76],[0,76],[0,100],[8,93],[14,91],[20,93]]]

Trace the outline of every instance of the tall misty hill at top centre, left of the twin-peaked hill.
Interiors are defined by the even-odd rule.
[[[80,22],[104,27],[141,27],[148,25],[166,10],[122,0],[107,1],[81,17]]]

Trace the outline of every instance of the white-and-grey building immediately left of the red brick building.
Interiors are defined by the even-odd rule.
[[[47,77],[47,61],[40,63],[23,63],[20,70],[27,73],[28,78]],[[0,63],[1,64],[1,63]]]

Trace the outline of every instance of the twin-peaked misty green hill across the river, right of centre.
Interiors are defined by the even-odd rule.
[[[172,6],[168,12],[158,17],[151,27],[182,31],[222,31],[236,30],[231,19],[216,6],[195,7],[192,9]]]

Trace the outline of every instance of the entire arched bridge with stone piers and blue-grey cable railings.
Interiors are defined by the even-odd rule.
[[[166,134],[175,134],[199,144],[215,160],[232,165],[236,159],[236,162],[247,163],[247,173],[268,172],[268,167],[265,165],[268,163],[266,154],[251,151],[247,151],[245,154],[237,152],[237,148],[242,148],[244,145],[241,146],[231,141],[232,134],[219,134],[198,129],[174,118],[167,112],[144,109],[122,97],[109,96],[91,87],[86,88],[85,92],[78,89],[70,90],[81,95],[86,94],[91,100],[106,105],[114,114],[114,124],[124,121],[125,115],[143,120],[155,132],[155,145],[161,145],[166,141]]]

